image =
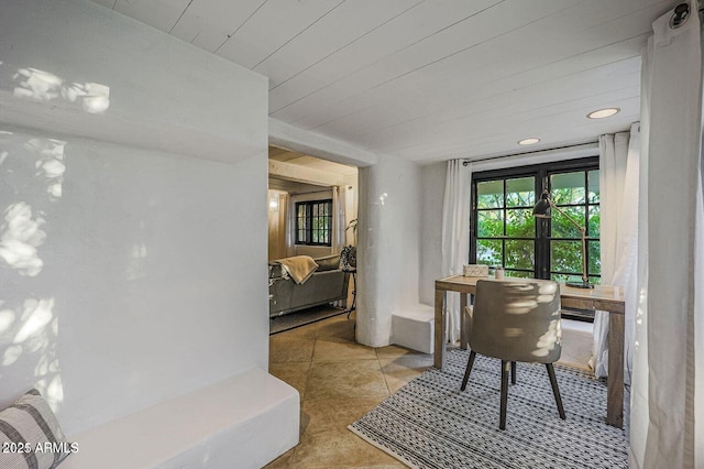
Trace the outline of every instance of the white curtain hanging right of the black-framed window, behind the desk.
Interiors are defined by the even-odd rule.
[[[630,132],[600,137],[602,283],[624,288],[626,299],[625,382],[630,384],[637,309],[638,185],[640,123]],[[596,312],[590,364],[608,375],[608,313]]]

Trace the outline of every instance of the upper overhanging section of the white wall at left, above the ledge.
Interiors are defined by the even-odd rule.
[[[87,0],[7,0],[0,21],[3,120],[223,161],[268,139],[246,92],[265,77]]]

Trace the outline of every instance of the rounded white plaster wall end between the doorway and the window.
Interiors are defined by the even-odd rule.
[[[383,347],[389,343],[392,313],[418,303],[420,168],[380,156],[360,168],[359,184],[356,340]]]

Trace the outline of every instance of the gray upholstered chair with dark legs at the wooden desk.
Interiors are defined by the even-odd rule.
[[[552,363],[560,359],[560,285],[551,281],[476,282],[474,305],[466,308],[470,359],[462,391],[476,353],[502,360],[501,429],[506,428],[508,371],[516,383],[516,362],[544,363],[560,418],[564,410]]]

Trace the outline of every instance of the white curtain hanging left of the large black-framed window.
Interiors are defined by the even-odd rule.
[[[470,259],[470,204],[472,165],[448,162],[442,203],[442,274],[459,275]],[[444,302],[449,342],[460,340],[460,295],[447,294]]]

